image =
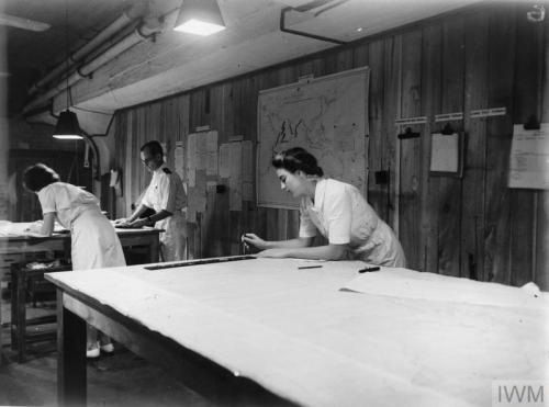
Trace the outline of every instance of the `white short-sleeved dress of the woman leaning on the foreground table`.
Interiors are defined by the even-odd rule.
[[[349,245],[352,258],[386,267],[405,267],[399,239],[351,184],[333,179],[316,183],[314,204],[303,199],[300,237],[320,231],[333,245]]]

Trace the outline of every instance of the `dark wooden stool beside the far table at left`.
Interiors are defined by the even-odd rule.
[[[54,324],[57,319],[56,314],[37,318],[26,319],[26,291],[29,286],[36,286],[40,282],[41,290],[44,291],[46,284],[49,290],[55,292],[55,286],[44,283],[44,273],[54,271],[69,271],[67,267],[48,269],[27,269],[25,263],[13,263],[11,265],[11,348],[18,352],[19,363],[24,362],[26,343],[42,342],[56,338],[55,329],[40,329],[41,325]],[[31,284],[29,282],[32,281]],[[34,292],[32,298],[35,304]],[[34,330],[27,330],[27,327],[34,327]]]

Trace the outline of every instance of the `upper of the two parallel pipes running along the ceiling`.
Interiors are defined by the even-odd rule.
[[[88,43],[86,43],[80,49],[78,49],[75,54],[69,55],[69,57],[57,65],[54,69],[52,69],[44,78],[36,81],[31,89],[29,90],[29,94],[33,95],[40,90],[44,90],[46,84],[49,83],[54,78],[60,76],[66,71],[67,66],[78,64],[83,57],[90,54],[94,48],[97,48],[100,44],[104,43],[109,37],[121,31],[132,21],[143,16],[148,9],[147,1],[141,1],[134,5],[132,5],[128,10],[124,11],[121,16],[119,16],[115,21],[109,24],[105,29],[99,32],[93,38],[91,38]]]

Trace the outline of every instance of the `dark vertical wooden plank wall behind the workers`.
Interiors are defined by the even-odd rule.
[[[547,192],[506,186],[513,123],[531,114],[549,120],[546,22],[526,21],[528,5],[482,5],[403,27],[281,66],[212,83],[184,94],[116,113],[116,158],[125,177],[119,215],[148,182],[138,147],[149,139],[175,142],[197,126],[219,131],[219,143],[243,135],[257,140],[258,91],[369,66],[368,200],[399,233],[410,267],[417,270],[549,289]],[[545,104],[544,104],[545,103]],[[507,115],[470,118],[469,112],[506,108]],[[429,174],[435,114],[463,112],[450,122],[466,135],[462,178]],[[400,117],[427,116],[412,126],[419,138],[399,139]],[[390,170],[390,184],[373,173]],[[227,184],[226,180],[216,180]],[[189,225],[191,257],[237,255],[239,236],[294,237],[295,211],[228,211],[228,193],[204,191],[206,212]]]

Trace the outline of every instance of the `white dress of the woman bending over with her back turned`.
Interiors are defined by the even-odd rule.
[[[55,212],[71,235],[72,270],[125,265],[124,252],[114,227],[101,213],[98,199],[65,182],[38,191],[44,214]]]

